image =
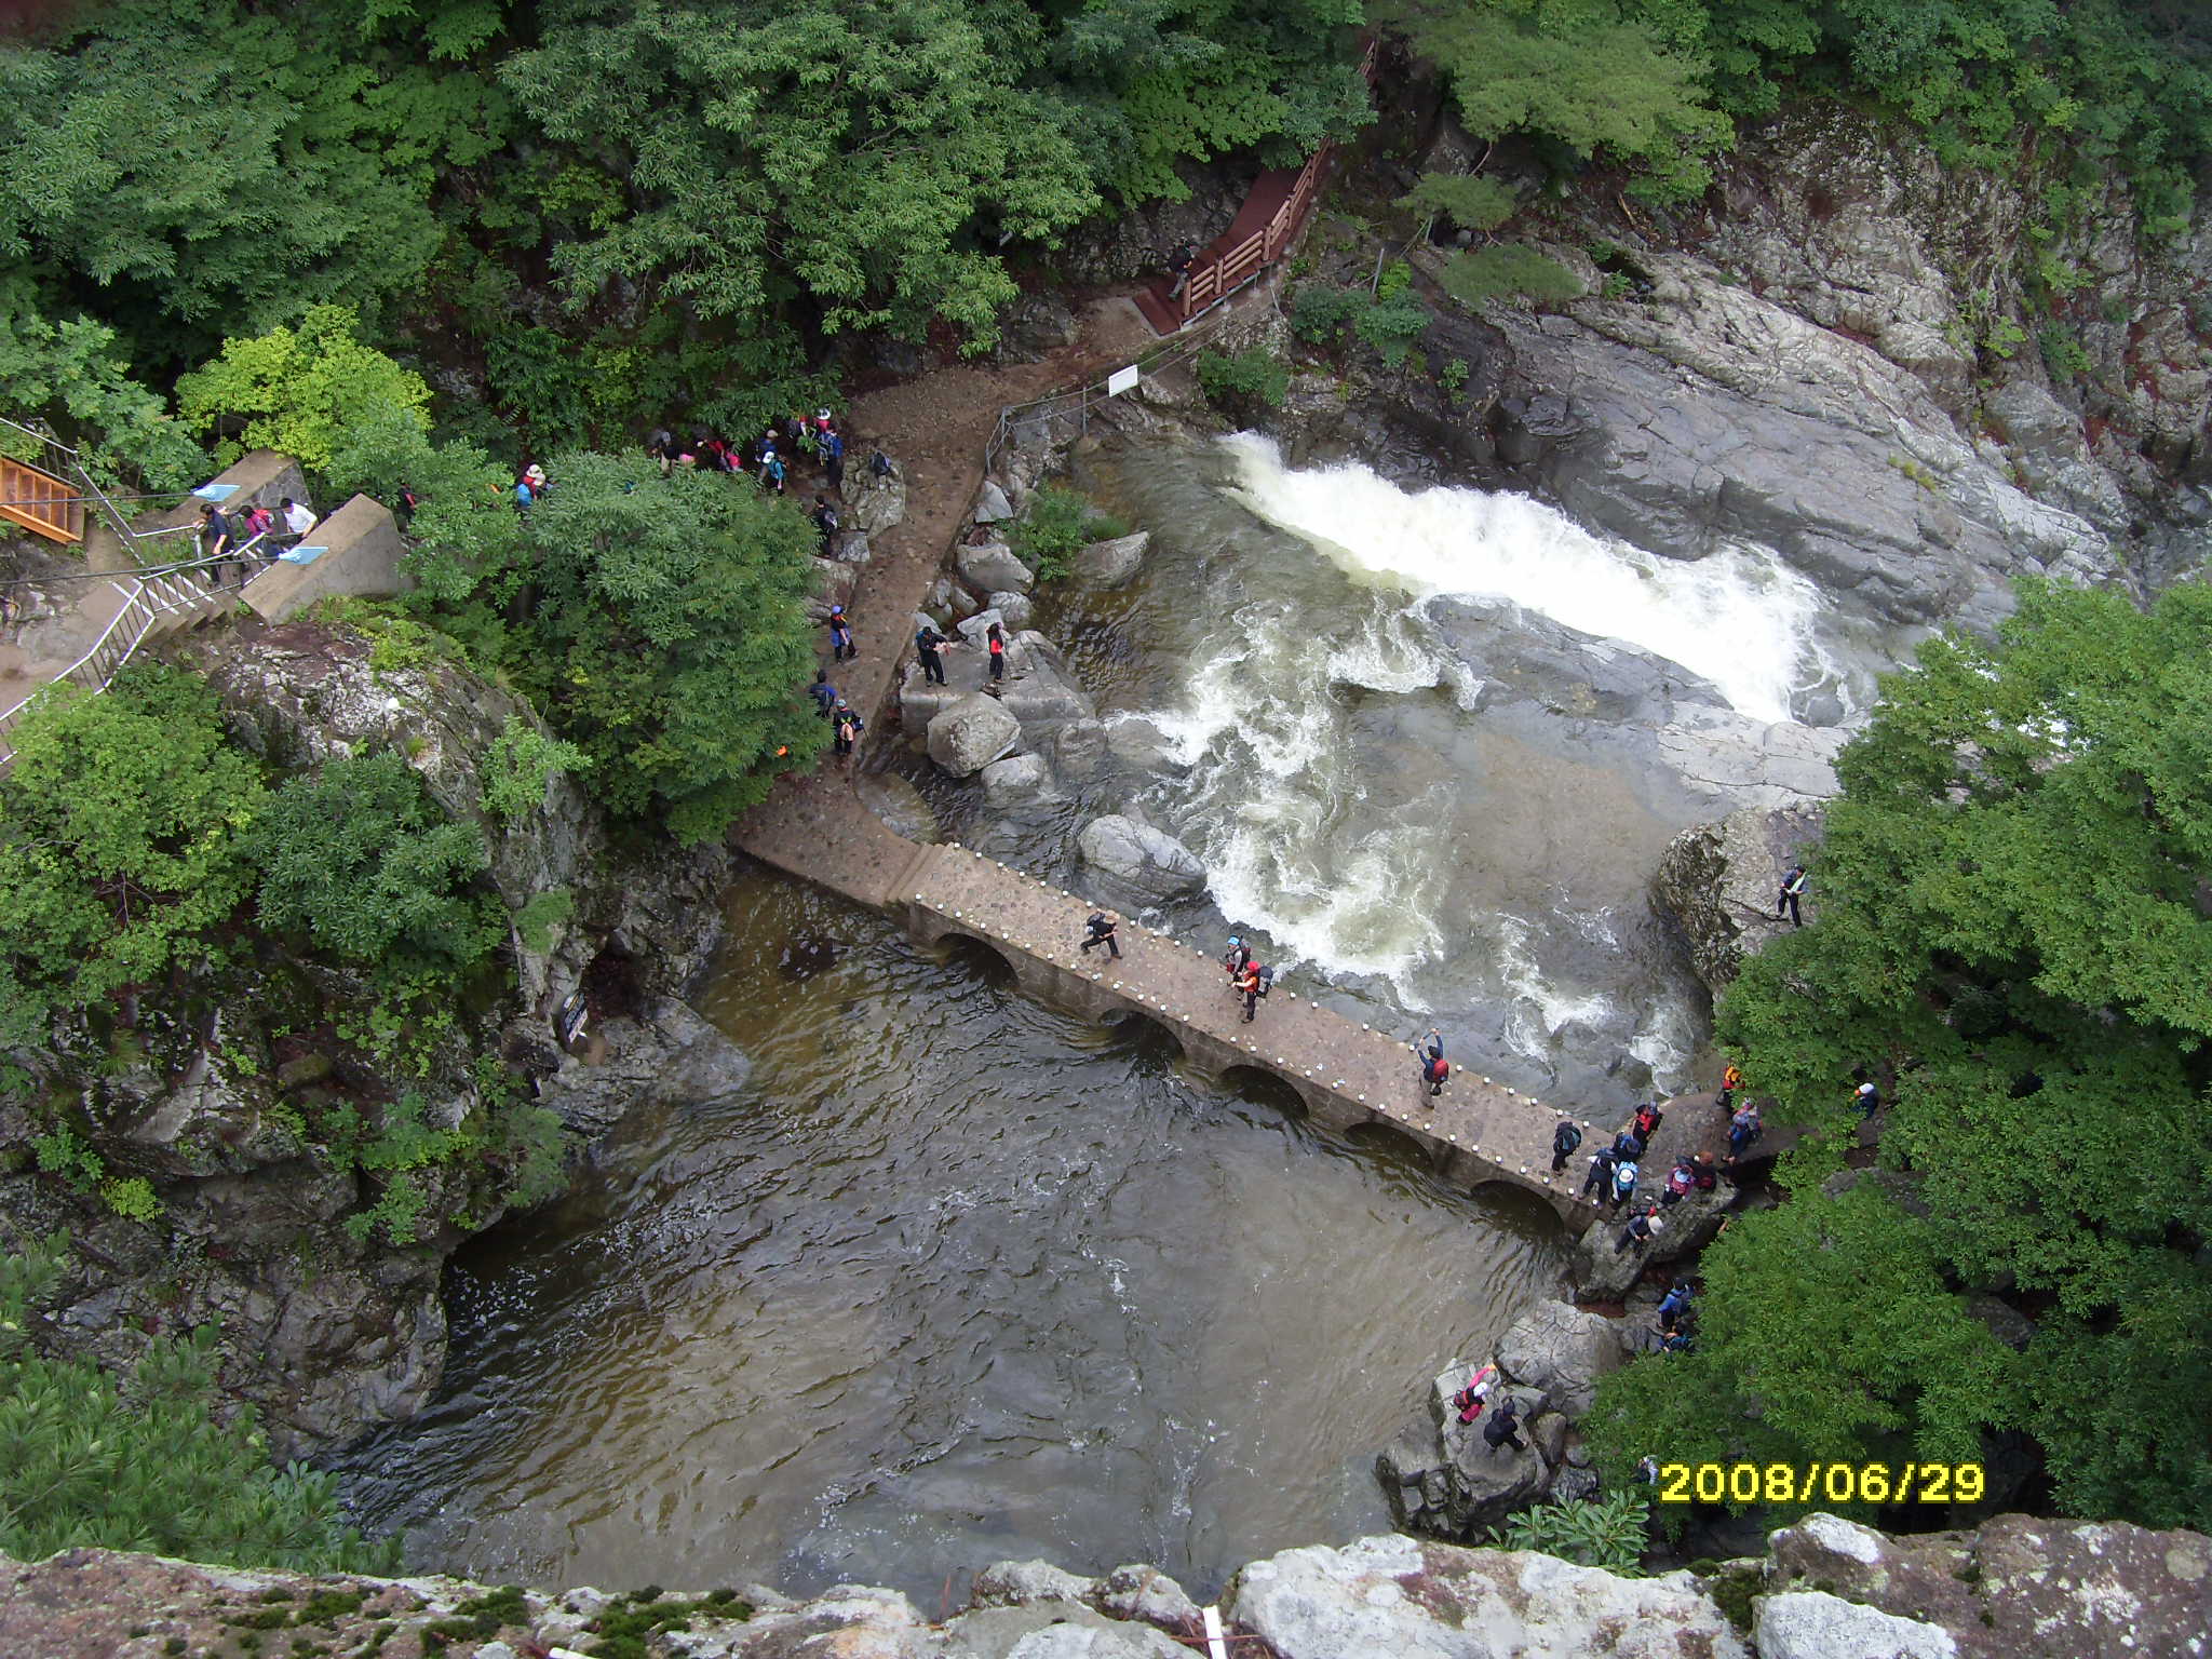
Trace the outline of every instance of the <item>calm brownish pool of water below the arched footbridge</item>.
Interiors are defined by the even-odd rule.
[[[701,1006],[748,1084],[633,1113],[465,1250],[436,1402],[343,1462],[414,1566],[927,1610],[1046,1555],[1210,1590],[1385,1528],[1371,1453],[1429,1371],[1564,1283],[1531,1201],[776,876],[730,894]]]

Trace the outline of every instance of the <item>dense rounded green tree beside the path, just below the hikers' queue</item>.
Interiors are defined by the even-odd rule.
[[[562,456],[533,511],[524,675],[624,816],[721,834],[827,743],[814,670],[814,533],[794,502],[644,460]]]

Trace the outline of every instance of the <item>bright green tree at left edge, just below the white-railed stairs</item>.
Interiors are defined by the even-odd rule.
[[[0,1040],[217,953],[252,885],[265,803],[190,675],[131,668],[104,697],[53,686],[0,779]]]

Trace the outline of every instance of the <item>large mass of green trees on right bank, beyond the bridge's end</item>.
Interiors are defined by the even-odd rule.
[[[1885,684],[1838,761],[1818,920],[1719,1009],[1754,1088],[1818,1130],[1798,1197],[1714,1250],[1699,1352],[1619,1385],[1619,1455],[1697,1413],[1703,1444],[1807,1455],[1900,1431],[1958,1455],[1936,1447],[2017,1425],[2064,1513],[2212,1520],[2208,648],[2212,591],[2139,613],[2024,584],[1995,644],[1933,639]],[[1896,1077],[1882,1157],[1909,1208],[1812,1192],[1863,1066]],[[2022,1360],[1942,1312],[1958,1285],[2033,1316]],[[1794,1329],[1792,1307],[1823,1312]],[[1863,1323],[1913,1378],[1854,1358]]]

